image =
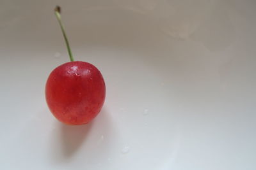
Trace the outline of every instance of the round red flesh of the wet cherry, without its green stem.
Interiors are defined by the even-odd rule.
[[[56,67],[45,86],[45,98],[54,117],[70,125],[87,124],[100,112],[106,96],[102,74],[88,62]]]

